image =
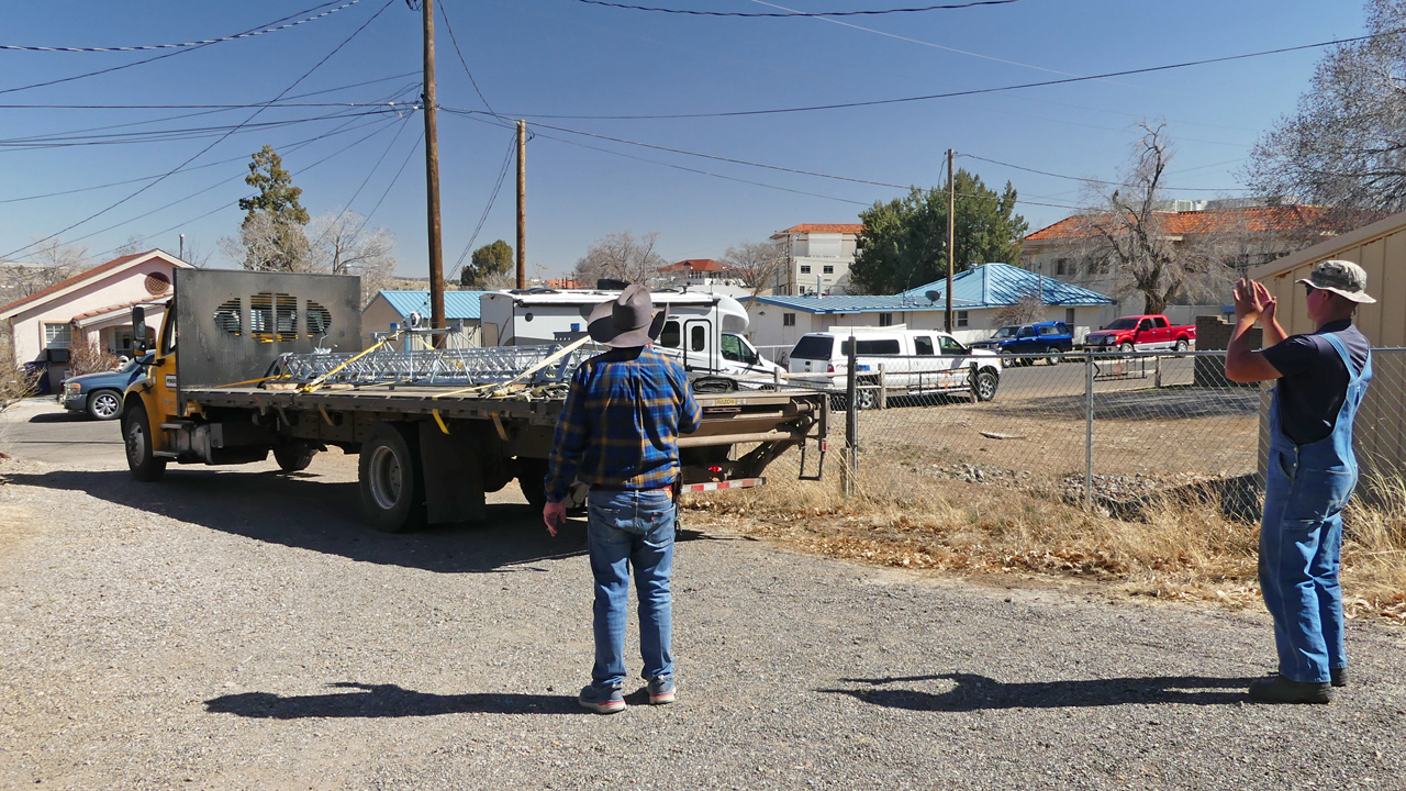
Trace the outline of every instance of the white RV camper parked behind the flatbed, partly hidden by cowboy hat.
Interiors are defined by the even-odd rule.
[[[586,334],[586,318],[620,291],[571,290],[494,291],[479,297],[485,346],[531,346],[575,341]],[[654,291],[654,307],[668,319],[655,348],[696,373],[747,379],[780,370],[762,359],[744,338],[747,308],[733,297],[695,291]]]

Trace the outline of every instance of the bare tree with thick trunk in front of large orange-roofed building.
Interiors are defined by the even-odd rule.
[[[1090,183],[1098,200],[1080,217],[1080,229],[1087,242],[1083,258],[1126,277],[1126,291],[1142,296],[1143,311],[1156,314],[1175,297],[1220,293],[1226,276],[1223,262],[1205,245],[1167,232],[1161,193],[1171,149],[1164,125],[1140,125],[1143,137],[1122,183],[1111,191],[1102,182]]]

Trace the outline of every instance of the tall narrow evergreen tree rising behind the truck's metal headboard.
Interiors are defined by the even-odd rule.
[[[271,145],[253,155],[245,183],[259,190],[253,197],[239,198],[245,221],[238,243],[243,248],[245,269],[305,270],[309,245],[302,227],[309,217],[298,203],[302,189],[292,186],[292,175],[284,170],[283,158]]]

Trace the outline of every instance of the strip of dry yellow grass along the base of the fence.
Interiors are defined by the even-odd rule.
[[[796,481],[769,470],[756,490],[695,495],[744,532],[807,552],[908,569],[1099,580],[1132,595],[1258,607],[1258,526],[1225,517],[1209,488],[1168,490],[1135,515],[1087,512],[1049,484],[966,483],[866,459],[846,501],[838,474]],[[837,470],[831,469],[830,473]],[[1351,616],[1406,621],[1406,484],[1348,514],[1343,580]]]

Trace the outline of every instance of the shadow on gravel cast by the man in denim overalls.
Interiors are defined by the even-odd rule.
[[[1007,684],[974,673],[942,673],[901,678],[841,678],[868,684],[858,690],[818,690],[866,704],[911,711],[977,711],[1000,708],[1111,707],[1123,704],[1226,705],[1246,700],[1253,678],[1150,676]],[[955,681],[945,692],[886,688],[889,684]]]

